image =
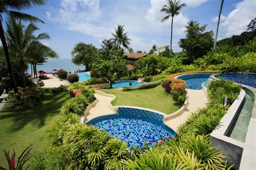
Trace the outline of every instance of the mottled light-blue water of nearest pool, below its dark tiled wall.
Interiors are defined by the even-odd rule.
[[[129,148],[133,145],[143,147],[146,141],[149,141],[149,146],[152,146],[154,142],[158,143],[160,139],[163,141],[165,136],[170,137],[171,134],[160,126],[139,119],[107,119],[94,125],[125,141]]]

